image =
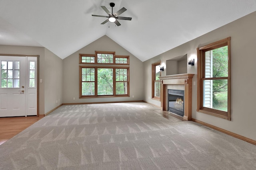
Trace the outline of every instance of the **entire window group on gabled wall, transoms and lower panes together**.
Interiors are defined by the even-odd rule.
[[[79,97],[129,97],[129,56],[111,51],[79,54]],[[100,66],[105,64],[105,66]],[[111,65],[111,66],[106,66]]]

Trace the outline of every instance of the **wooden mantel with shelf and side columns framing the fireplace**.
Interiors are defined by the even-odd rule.
[[[171,84],[184,85],[184,116],[183,120],[191,120],[192,117],[192,78],[194,74],[175,74],[161,76],[161,108],[167,111],[167,86]]]

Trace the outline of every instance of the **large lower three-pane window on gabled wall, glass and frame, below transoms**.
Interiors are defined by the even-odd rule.
[[[129,67],[80,66],[80,98],[129,96]]]

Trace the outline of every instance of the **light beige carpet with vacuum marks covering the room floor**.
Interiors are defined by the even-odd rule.
[[[256,146],[143,102],[64,105],[0,145],[1,170],[255,170]]]

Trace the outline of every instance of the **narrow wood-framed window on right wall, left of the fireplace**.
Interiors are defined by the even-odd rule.
[[[160,101],[160,62],[152,64],[152,99]]]

